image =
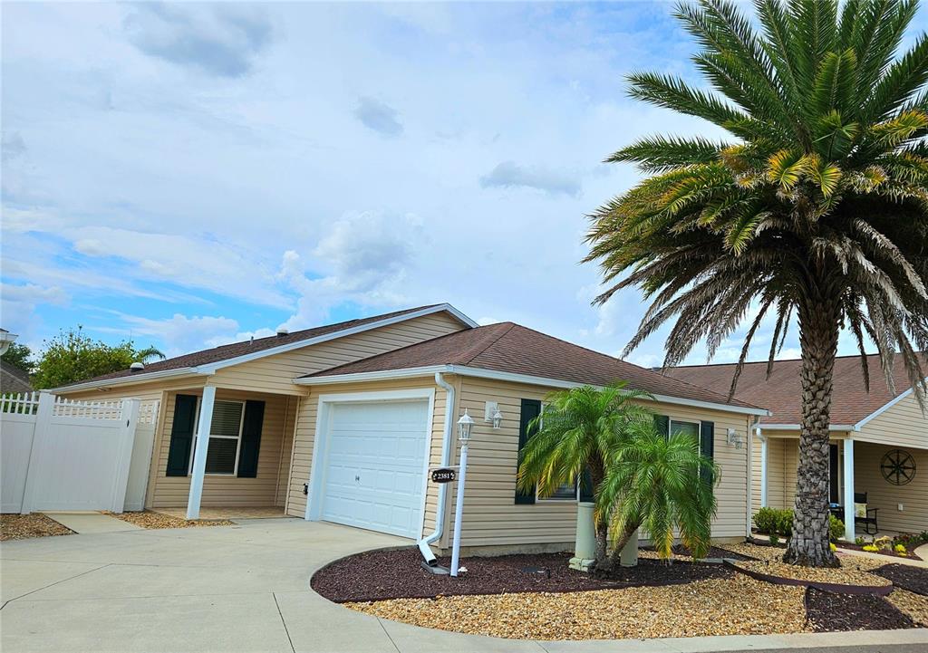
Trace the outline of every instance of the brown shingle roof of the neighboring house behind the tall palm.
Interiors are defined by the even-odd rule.
[[[859,356],[839,356],[834,364],[834,390],[831,398],[831,424],[845,426],[857,424],[894,398],[886,385],[880,357],[867,357],[870,371],[870,392],[864,389],[863,372]],[[747,363],[738,379],[735,397],[744,402],[761,403],[772,413],[763,417],[767,424],[799,424],[802,420],[802,387],[800,368],[802,361],[777,361],[767,379],[767,361]],[[665,370],[668,377],[678,378],[695,385],[728,395],[735,364],[684,365]],[[899,356],[893,365],[896,392],[911,388],[905,366]]]

